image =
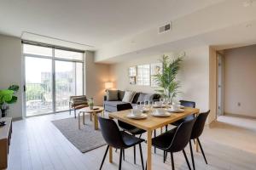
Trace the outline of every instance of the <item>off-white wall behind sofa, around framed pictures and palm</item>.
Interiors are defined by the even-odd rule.
[[[209,48],[202,46],[185,49],[186,58],[181,71],[177,76],[182,83],[180,89],[183,94],[179,99],[193,100],[201,111],[209,109]],[[172,52],[168,53],[174,54]],[[154,88],[129,84],[128,68],[133,65],[150,64],[159,62],[161,55],[138,56],[137,59],[125,61],[110,66],[111,80],[118,89],[131,89],[137,92],[154,93]]]

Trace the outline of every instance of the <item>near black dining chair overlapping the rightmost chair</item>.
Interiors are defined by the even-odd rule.
[[[172,129],[171,131],[162,133],[159,136],[152,139],[152,145],[154,145],[154,147],[160,150],[164,150],[164,161],[166,161],[167,153],[171,153],[172,170],[175,169],[173,153],[181,150],[183,151],[183,156],[185,157],[189,169],[191,169],[184,148],[186,147],[187,144],[189,144],[192,127],[195,123],[195,119],[196,118],[190,121],[182,122],[178,127]]]

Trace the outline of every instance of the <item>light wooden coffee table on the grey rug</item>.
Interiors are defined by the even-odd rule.
[[[80,114],[83,114],[83,124],[85,124],[85,121],[84,121],[84,118],[85,118],[84,114],[85,113],[90,114],[90,121],[92,121],[91,117],[94,118],[94,129],[95,130],[99,129],[98,113],[102,113],[102,116],[103,116],[104,108],[102,106],[94,106],[93,108],[94,108],[93,110],[90,110],[90,107],[84,107],[83,109],[80,109],[80,111],[79,111],[79,129],[81,129],[81,127],[80,127]]]

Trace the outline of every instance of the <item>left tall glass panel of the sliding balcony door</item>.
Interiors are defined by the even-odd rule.
[[[52,60],[25,58],[26,116],[53,112]]]

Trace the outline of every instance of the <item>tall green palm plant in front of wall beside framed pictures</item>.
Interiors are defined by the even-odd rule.
[[[154,81],[160,89],[156,89],[161,96],[172,103],[173,99],[180,93],[180,82],[176,80],[177,71],[180,69],[180,65],[183,61],[185,54],[178,56],[177,58],[170,59],[169,56],[164,55],[160,60],[163,63],[162,73],[158,73],[154,76]]]

